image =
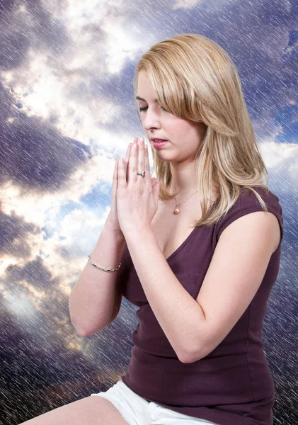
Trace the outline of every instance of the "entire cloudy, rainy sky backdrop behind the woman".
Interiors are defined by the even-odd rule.
[[[182,33],[234,60],[282,205],[263,340],[275,425],[297,423],[297,1],[0,0],[1,424],[108,390],[127,370],[137,307],[122,298],[115,322],[81,337],[68,300],[110,210],[115,161],[144,136],[137,62]]]

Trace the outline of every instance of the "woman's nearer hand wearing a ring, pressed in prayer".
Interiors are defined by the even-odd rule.
[[[135,147],[134,147],[135,145]],[[118,179],[116,203],[120,229],[125,235],[135,229],[151,228],[151,221],[159,206],[159,188],[161,182],[151,185],[149,154],[144,149],[144,139],[134,144],[125,173],[125,162],[118,159]],[[137,176],[137,172],[146,171],[146,176]]]

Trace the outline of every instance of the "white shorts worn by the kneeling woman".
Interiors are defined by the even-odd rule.
[[[107,391],[91,395],[108,399],[130,425],[218,425],[148,402],[130,390],[121,379]]]

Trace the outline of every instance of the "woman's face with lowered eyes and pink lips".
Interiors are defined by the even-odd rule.
[[[193,162],[198,145],[205,135],[204,123],[178,118],[165,111],[155,101],[155,95],[147,72],[140,71],[137,80],[137,96],[144,131],[152,145],[151,137],[168,140],[164,147],[152,147],[161,161]],[[144,108],[144,111],[142,111]]]

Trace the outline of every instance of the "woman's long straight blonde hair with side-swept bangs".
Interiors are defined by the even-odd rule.
[[[156,98],[166,111],[206,126],[195,154],[202,217],[194,221],[194,226],[217,222],[239,198],[241,187],[252,191],[263,210],[268,211],[251,187],[261,186],[269,191],[268,171],[258,149],[238,72],[228,53],[204,35],[180,34],[158,42],[137,64],[134,97],[142,70],[147,72]],[[168,191],[172,179],[170,163],[158,159],[152,147],[151,152],[156,178],[161,181],[159,198],[172,199],[178,192]],[[212,204],[214,189],[217,200]]]

